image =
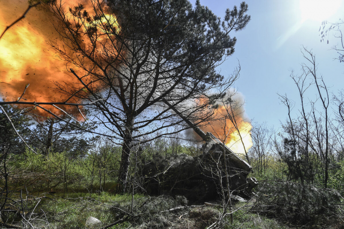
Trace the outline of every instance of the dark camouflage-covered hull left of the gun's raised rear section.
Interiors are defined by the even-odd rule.
[[[202,169],[201,156],[158,157],[144,167],[143,175],[150,195],[182,195],[192,202],[217,197],[214,180]]]

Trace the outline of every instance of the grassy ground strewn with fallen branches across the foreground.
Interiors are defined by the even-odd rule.
[[[101,227],[114,223],[123,217],[123,212],[116,207],[130,212],[131,195],[113,195],[103,192],[101,194],[68,193],[64,197],[50,196],[43,198],[36,208],[42,219],[42,209],[50,223],[51,228],[56,229],[80,229],[85,228],[86,219],[89,216],[99,219]],[[178,211],[164,212],[175,206],[185,206],[185,199],[177,197],[147,197],[134,196],[135,217],[117,224],[110,229],[204,229],[216,221],[221,208],[200,207],[181,209]],[[237,203],[233,209],[242,207],[244,203]],[[183,215],[183,217],[180,217]],[[39,217],[38,217],[39,218]],[[32,221],[31,223],[40,223]],[[225,218],[222,226],[224,229],[287,229],[288,227],[276,220],[269,219],[249,211],[249,207],[243,207],[233,213],[233,223],[230,224],[229,216]],[[48,228],[40,226],[40,228]],[[97,227],[100,228],[100,227]]]

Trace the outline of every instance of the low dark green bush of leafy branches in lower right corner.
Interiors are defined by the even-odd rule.
[[[338,204],[343,199],[334,189],[296,182],[264,182],[252,210],[294,224],[319,222],[326,217],[342,214]]]

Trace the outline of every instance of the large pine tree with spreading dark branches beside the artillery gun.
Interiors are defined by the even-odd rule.
[[[175,132],[166,130],[182,122],[164,101],[199,120],[232,85],[235,78],[215,68],[234,52],[236,38],[229,33],[244,29],[250,16],[245,2],[227,9],[223,21],[200,1],[194,8],[187,0],[92,4],[92,9],[79,4],[65,11],[58,2],[50,3],[65,44],[52,45],[75,65],[70,71],[81,85],[60,89],[91,102],[98,123],[122,142],[118,180],[124,192],[133,145],[154,133],[171,135]],[[195,103],[201,97],[207,102]]]

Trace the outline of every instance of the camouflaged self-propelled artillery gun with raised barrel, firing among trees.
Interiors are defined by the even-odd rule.
[[[214,135],[205,134],[175,108],[172,110],[205,141],[203,154],[197,157],[186,154],[157,156],[146,163],[143,176],[147,193],[185,196],[192,202],[202,202],[218,198],[221,186],[228,192],[229,183],[231,195],[252,196],[252,188],[258,184],[256,178],[247,178],[252,167]]]

